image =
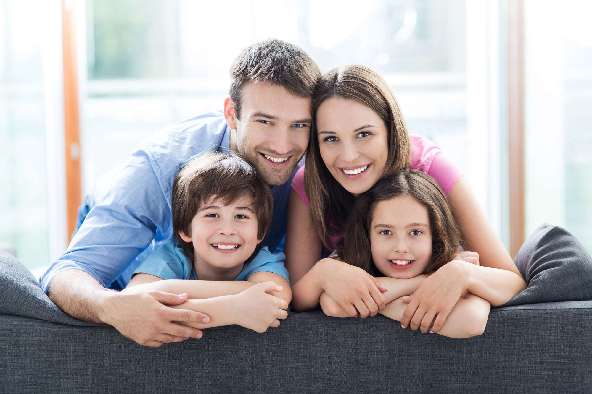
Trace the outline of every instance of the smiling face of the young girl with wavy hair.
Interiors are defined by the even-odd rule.
[[[426,269],[432,255],[430,220],[413,197],[379,202],[369,232],[372,260],[384,276],[409,279]]]

